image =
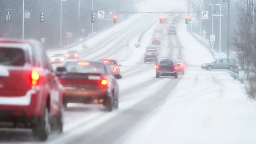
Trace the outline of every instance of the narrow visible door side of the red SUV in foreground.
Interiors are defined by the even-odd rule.
[[[46,53],[42,51],[43,57],[43,68],[46,73],[46,79],[48,83],[48,91],[50,94],[50,116],[56,115],[59,112],[59,83],[57,77],[55,76],[54,70],[50,64],[48,58],[46,58]]]

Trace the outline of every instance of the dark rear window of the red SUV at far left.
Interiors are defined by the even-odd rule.
[[[26,57],[23,49],[0,47],[0,65],[23,66],[25,62]]]

